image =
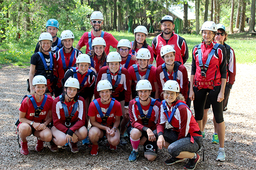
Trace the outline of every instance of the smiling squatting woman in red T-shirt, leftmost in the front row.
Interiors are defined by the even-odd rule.
[[[44,141],[52,140],[52,132],[47,125],[52,122],[53,99],[45,94],[47,80],[43,75],[37,75],[34,76],[32,85],[34,92],[25,96],[19,108],[18,134],[21,138],[20,153],[23,155],[29,154],[26,137],[31,134],[37,137],[37,152],[44,148]]]

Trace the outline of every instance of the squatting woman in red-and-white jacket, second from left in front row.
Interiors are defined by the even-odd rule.
[[[78,96],[79,81],[70,77],[64,84],[63,94],[56,97],[52,106],[52,141],[51,151],[58,151],[58,146],[68,143],[71,152],[79,151],[77,142],[87,136],[85,100]]]

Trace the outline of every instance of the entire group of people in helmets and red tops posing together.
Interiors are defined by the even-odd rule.
[[[188,158],[184,168],[195,169],[212,105],[212,143],[219,143],[217,160],[224,161],[223,111],[236,75],[234,51],[225,44],[225,26],[214,22],[202,25],[202,42],[192,50],[190,82],[183,66],[189,57],[188,46],[174,33],[171,16],[162,18],[162,33],[153,39],[152,47],[146,42],[145,26],[136,27],[135,39],[130,42],[117,41],[101,30],[102,24],[102,13],[94,11],[92,31],[84,33],[74,48],[72,31],[65,30],[58,38],[58,21],[47,21],[47,32],[41,33],[31,56],[30,95],[19,109],[20,153],[29,154],[26,137],[33,134],[38,152],[44,141],[49,141],[52,152],[69,145],[76,153],[82,140],[83,144],[91,141],[91,155],[97,155],[103,137],[110,150],[127,145],[127,131],[133,147],[129,161],[139,157],[139,145],[149,161],[165,147],[171,155],[165,164]],[[80,51],[83,46],[86,54]],[[117,48],[116,52],[109,52],[109,46]],[[157,67],[152,65],[154,59]],[[167,121],[172,128],[165,127]]]

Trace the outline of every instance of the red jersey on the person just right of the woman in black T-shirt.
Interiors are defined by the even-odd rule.
[[[65,64],[66,64],[66,69],[64,70],[63,68],[63,61],[61,58],[61,53],[60,51],[63,52],[64,54],[64,59],[65,59]],[[75,65],[75,63],[77,62],[77,57],[79,54],[82,54],[82,52],[80,52],[78,49],[73,48],[71,50],[70,53],[65,53],[63,48],[60,48],[59,51],[57,51],[56,53],[54,53],[54,69],[56,69],[56,71],[54,72],[54,75],[56,75],[60,81],[58,81],[57,86],[60,88],[62,86],[61,84],[61,79],[64,78],[65,72],[68,69],[70,60],[71,60],[71,54],[74,54],[73,56],[73,61],[72,61],[72,65],[71,67],[73,67]]]

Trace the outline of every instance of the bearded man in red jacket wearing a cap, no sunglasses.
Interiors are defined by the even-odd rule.
[[[186,45],[184,38],[174,33],[174,27],[174,20],[171,16],[167,15],[162,18],[162,33],[156,36],[152,41],[152,48],[157,67],[164,63],[164,60],[161,58],[160,51],[161,47],[165,45],[171,45],[174,47],[176,51],[175,61],[180,61],[184,64],[189,58],[188,45]]]

